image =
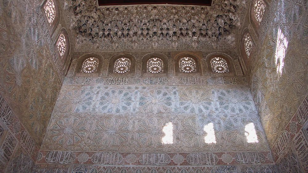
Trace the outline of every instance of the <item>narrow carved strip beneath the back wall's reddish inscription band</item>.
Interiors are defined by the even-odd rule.
[[[206,167],[124,167],[124,166],[88,166],[88,165],[35,165],[34,172],[73,172],[73,173],[246,173],[246,172],[272,172],[277,173],[277,167],[274,165],[261,166],[206,166]]]

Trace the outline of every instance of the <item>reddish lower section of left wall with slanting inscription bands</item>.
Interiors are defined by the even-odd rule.
[[[25,168],[25,171],[31,171],[39,149],[36,147],[34,140],[26,131],[22,123],[15,116],[10,106],[0,95],[0,126],[2,129],[0,137],[0,171],[1,172],[18,172]],[[25,159],[23,166],[16,160]],[[15,160],[15,161],[13,161]],[[8,166],[14,164],[14,166]],[[12,167],[17,168],[12,168]],[[19,170],[19,168],[21,168]]]

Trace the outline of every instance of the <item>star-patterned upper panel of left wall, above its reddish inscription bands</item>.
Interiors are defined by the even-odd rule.
[[[0,4],[0,92],[40,146],[62,81],[31,2]]]

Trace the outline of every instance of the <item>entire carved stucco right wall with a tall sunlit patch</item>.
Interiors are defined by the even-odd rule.
[[[268,5],[254,37],[251,90],[280,171],[306,172],[308,144],[301,129],[308,119],[308,2],[276,0]],[[281,75],[275,61],[279,29],[288,40]]]

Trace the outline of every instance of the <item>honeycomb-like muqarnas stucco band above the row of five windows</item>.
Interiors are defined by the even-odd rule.
[[[97,7],[96,1],[73,0],[68,8],[75,14],[76,49],[232,49],[245,6],[215,0],[211,7]]]

